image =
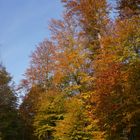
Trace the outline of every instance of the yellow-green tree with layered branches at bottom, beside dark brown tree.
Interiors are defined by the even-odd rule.
[[[34,134],[39,140],[55,139],[57,123],[64,119],[65,95],[58,91],[50,90],[41,95],[37,104],[37,114],[34,117]]]

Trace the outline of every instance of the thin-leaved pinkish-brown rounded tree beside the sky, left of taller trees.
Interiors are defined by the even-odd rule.
[[[30,67],[25,73],[30,86],[40,85],[48,88],[53,74],[55,47],[49,40],[44,40],[31,55]]]

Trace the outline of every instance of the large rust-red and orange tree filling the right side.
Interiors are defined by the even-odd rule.
[[[139,138],[139,38],[137,17],[117,20],[94,63],[92,107],[110,139],[121,139],[124,131]]]

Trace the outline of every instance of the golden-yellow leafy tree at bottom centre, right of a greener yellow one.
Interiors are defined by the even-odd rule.
[[[90,140],[92,136],[92,124],[83,103],[77,96],[67,99],[67,113],[64,120],[58,122],[55,136],[59,140]]]

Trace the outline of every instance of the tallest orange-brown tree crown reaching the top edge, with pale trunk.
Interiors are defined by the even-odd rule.
[[[67,16],[74,17],[82,29],[80,36],[85,39],[85,47],[90,50],[90,58],[94,58],[96,50],[100,48],[99,38],[107,30],[108,5],[106,0],[62,0]]]

